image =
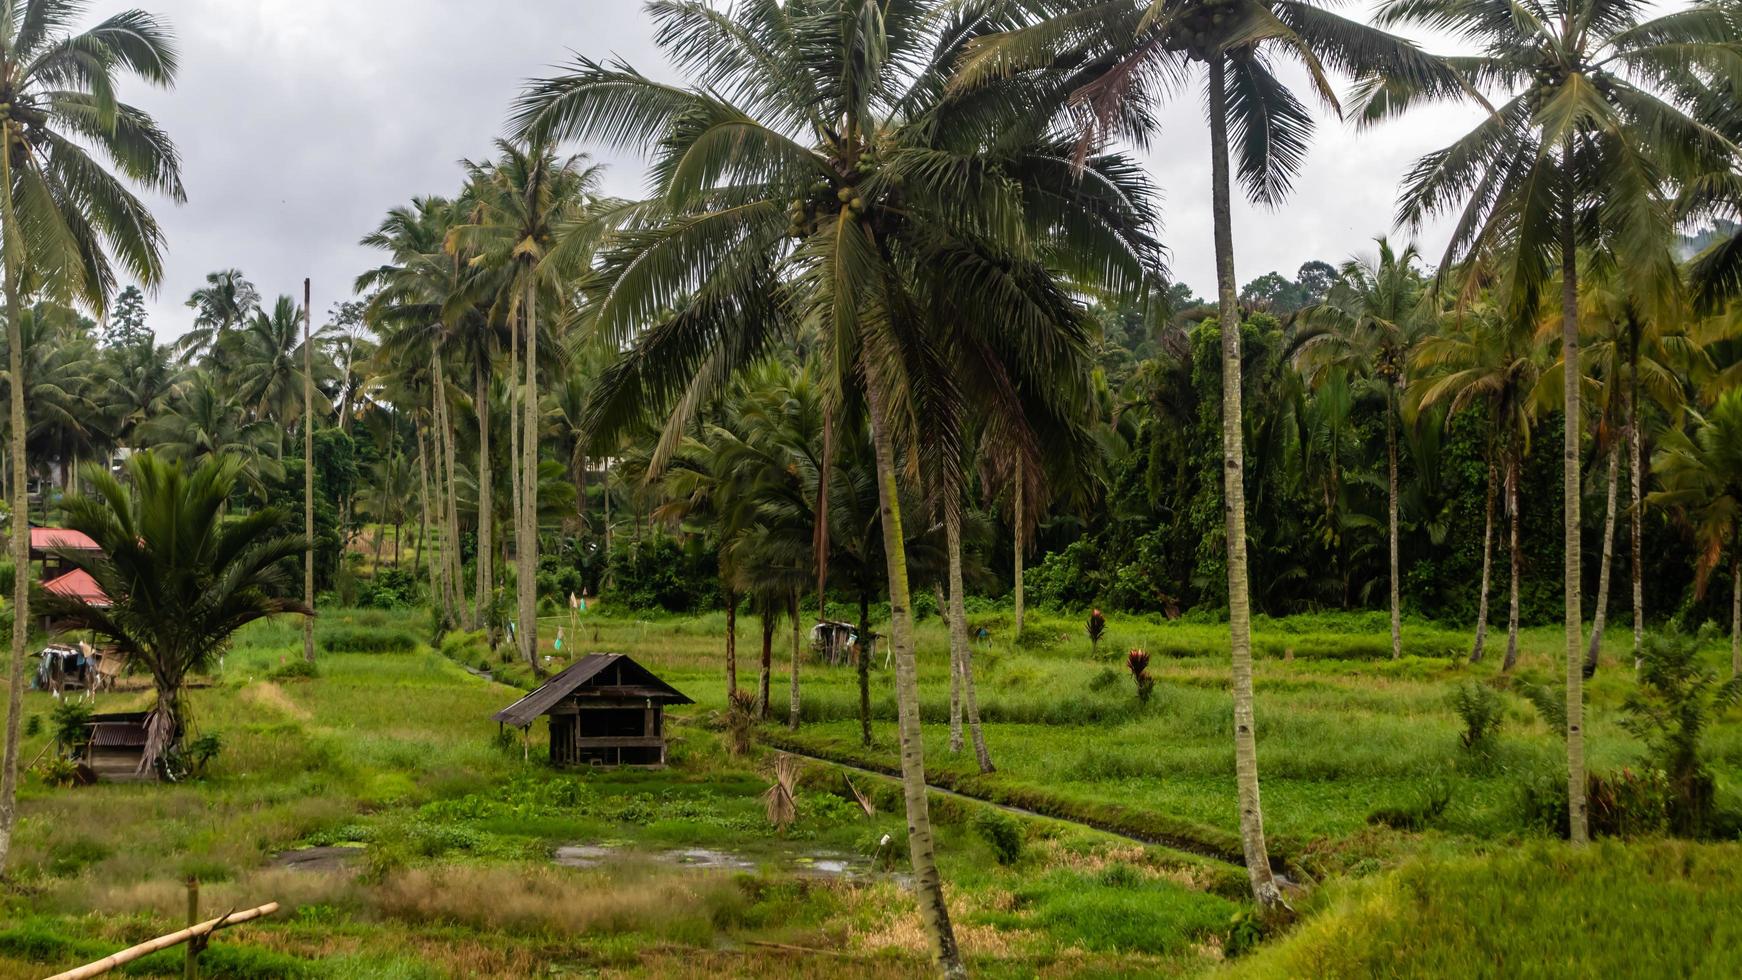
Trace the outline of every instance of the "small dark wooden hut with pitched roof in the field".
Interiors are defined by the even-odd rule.
[[[552,766],[664,766],[665,705],[690,703],[622,653],[589,653],[495,719],[528,729],[547,715]]]

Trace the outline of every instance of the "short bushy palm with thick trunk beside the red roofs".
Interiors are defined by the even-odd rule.
[[[263,507],[226,517],[240,460],[207,460],[192,470],[138,453],[124,484],[92,467],[91,496],[66,501],[66,526],[84,531],[101,552],[68,552],[108,597],[108,606],[44,595],[51,614],[91,630],[152,674],[157,705],[146,719],[139,771],[148,771],[186,733],[181,688],[186,675],[213,665],[230,637],[279,613],[314,611],[284,597],[282,559],[303,550],[286,534],[282,510]]]

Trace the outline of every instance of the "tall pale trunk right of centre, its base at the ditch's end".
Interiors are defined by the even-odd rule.
[[[1216,221],[1216,294],[1221,305],[1223,515],[1228,533],[1228,644],[1233,661],[1233,766],[1240,797],[1240,844],[1252,898],[1284,907],[1265,848],[1258,799],[1258,729],[1252,717],[1252,609],[1246,581],[1246,444],[1240,409],[1240,312],[1233,294],[1233,207],[1228,202],[1226,66],[1209,64],[1211,204]]]

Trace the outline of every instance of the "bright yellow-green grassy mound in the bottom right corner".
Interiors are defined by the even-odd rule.
[[[1735,977],[1737,844],[1533,844],[1411,862],[1327,888],[1228,973],[1294,977]]]

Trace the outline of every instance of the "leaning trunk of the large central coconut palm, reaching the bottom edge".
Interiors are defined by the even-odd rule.
[[[967,977],[962,952],[956,949],[956,933],[949,926],[949,905],[944,903],[944,881],[937,874],[932,816],[925,799],[920,670],[913,651],[913,597],[908,590],[908,548],[901,527],[895,444],[888,432],[890,413],[883,404],[883,388],[878,385],[874,371],[866,371],[866,400],[871,407],[871,447],[876,456],[878,513],[883,526],[883,559],[888,562],[888,634],[890,642],[895,644],[895,731],[901,743],[901,795],[908,811],[908,858],[913,867],[913,888],[920,898],[920,921],[930,933],[937,966],[946,977]],[[1021,526],[1021,522],[1017,524]]]

